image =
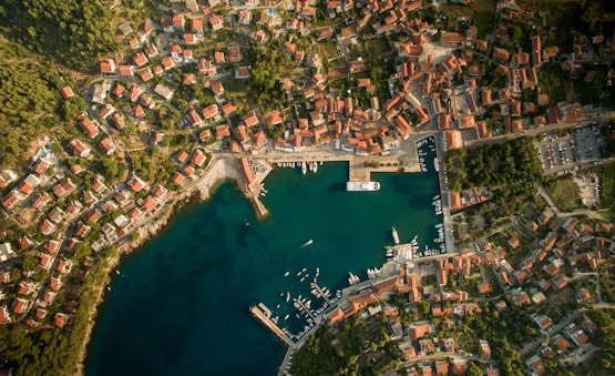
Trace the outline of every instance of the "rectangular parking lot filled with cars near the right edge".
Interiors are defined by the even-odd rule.
[[[584,125],[563,135],[544,133],[534,142],[545,175],[563,175],[602,157],[602,139],[595,125]]]

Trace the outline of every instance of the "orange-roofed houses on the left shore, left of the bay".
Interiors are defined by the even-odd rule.
[[[89,138],[96,136],[96,124],[95,120],[88,118],[79,122]],[[89,157],[80,152],[82,145],[89,150],[83,141],[72,139],[66,151]],[[31,222],[37,234],[0,244],[1,262],[10,262],[18,252],[35,255],[34,270],[24,270],[19,281],[12,281],[13,275],[8,272],[0,274],[0,323],[27,317],[25,323],[30,326],[64,327],[75,313],[80,284],[94,262],[91,257],[78,261],[78,248],[103,252],[129,238],[175,197],[173,184],[184,186],[198,176],[208,156],[202,149],[189,154],[181,150],[173,161],[177,171],[170,181],[152,186],[133,175],[125,184],[110,187],[100,174],[78,184],[72,175],[80,176],[84,170],[73,164],[69,174],[59,163],[59,156],[48,148],[38,151],[25,176],[19,177],[11,170],[2,170],[2,187],[13,186],[2,196],[2,207],[8,214]],[[31,219],[25,220],[25,213],[30,213]],[[16,245],[18,252],[13,251]],[[41,273],[45,277],[41,278]],[[76,282],[64,283],[69,280]],[[64,307],[53,306],[58,294],[69,297]]]

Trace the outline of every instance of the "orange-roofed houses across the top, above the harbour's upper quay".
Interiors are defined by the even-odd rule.
[[[474,26],[462,32],[437,34],[428,22],[420,19],[420,1],[329,0],[322,11],[334,19],[346,19],[341,27],[335,28],[331,24],[316,26],[319,7],[316,1],[290,3],[284,20],[274,9],[256,8],[258,3],[253,0],[244,1],[245,7],[230,14],[222,11],[225,6],[225,2],[212,0],[194,11],[194,7],[186,4],[189,12],[161,17],[157,22],[146,20],[136,33],[126,33],[134,54],[126,59],[125,64],[107,59],[101,63],[101,73],[134,81],[129,89],[114,89],[116,95],[121,95],[122,89],[131,90],[129,99],[135,105],[129,109],[129,115],[143,118],[143,106],[153,110],[160,105],[152,96],[170,100],[174,95],[174,87],[178,84],[199,84],[212,90],[216,102],[192,106],[185,114],[186,123],[198,129],[199,141],[209,142],[215,136],[216,140],[224,140],[225,148],[232,152],[257,153],[267,144],[264,128],[283,128],[287,131],[273,140],[276,150],[301,151],[307,145],[335,142],[336,149],[361,155],[394,153],[397,148],[392,141],[408,136],[412,129],[430,119],[445,133],[447,146],[457,149],[467,139],[490,136],[486,121],[476,120],[488,113],[509,133],[583,116],[584,108],[580,103],[552,104],[549,94],[541,92],[541,68],[545,62],[555,60],[563,60],[563,68],[570,62],[573,67],[582,64],[594,57],[592,45],[599,44],[602,55],[608,55],[613,44],[602,35],[592,40],[580,37],[574,42],[575,52],[561,54],[558,47],[543,45],[546,37],[534,35],[531,37],[531,51],[509,51],[496,47],[496,42],[490,45],[488,40],[479,39]],[[356,12],[356,9],[360,11]],[[508,8],[504,18],[524,17],[520,13],[523,11]],[[279,82],[288,96],[304,99],[309,111],[299,113],[291,109],[278,109],[260,114],[258,109],[254,109],[246,113],[236,112],[237,106],[225,95],[222,79],[229,69],[234,70],[233,77],[238,80],[250,77],[250,67],[245,62],[242,48],[230,43],[226,50],[209,51],[211,54],[205,57],[196,57],[194,52],[216,32],[234,24],[242,26],[256,43],[285,38],[283,52],[289,54],[298,67],[316,71],[301,83],[287,78],[280,78]],[[382,105],[380,100],[383,99],[379,98],[382,93],[377,91],[376,82],[367,78],[369,63],[360,58],[348,62],[350,91],[365,91],[370,99],[369,105],[366,108],[363,103],[361,108],[359,101],[352,98],[355,95],[331,90],[330,75],[321,72],[321,57],[298,48],[293,35],[312,34],[317,42],[335,40],[339,53],[345,54],[349,45],[357,43],[358,33],[368,29],[376,38],[391,33],[401,38],[391,42],[385,53],[396,59],[397,69],[388,79],[391,98]],[[161,37],[163,33],[164,38]],[[496,37],[505,41],[511,39],[503,26],[498,28]],[[449,53],[434,57],[431,52],[433,45],[445,48]],[[458,49],[463,51],[453,53]],[[489,51],[496,74],[505,82],[502,88],[479,85],[485,73],[481,64],[484,65],[484,55]],[[165,77],[168,71],[186,64],[196,68],[196,73],[183,73],[182,82],[166,80],[165,83],[148,87],[147,82],[154,77]],[[454,82],[460,73],[467,79],[461,83]],[[394,82],[399,83],[396,89],[392,88]],[[523,93],[534,89],[537,89],[536,99],[523,100]],[[103,104],[104,91],[94,90],[92,101]],[[96,95],[100,92],[102,95]],[[234,114],[240,119],[232,121]],[[115,123],[121,123],[121,114],[115,116],[120,118],[114,118]]]

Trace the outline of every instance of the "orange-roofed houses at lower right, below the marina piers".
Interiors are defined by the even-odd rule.
[[[539,313],[549,299],[550,293],[558,294],[578,273],[587,272],[588,274],[583,275],[593,275],[595,278],[595,274],[592,273],[597,271],[608,252],[615,252],[615,225],[609,222],[587,224],[576,217],[555,217],[554,213],[546,209],[527,223],[527,231],[535,235],[527,245],[522,245],[517,237],[508,238],[504,247],[483,241],[474,244],[474,250],[465,247],[454,256],[433,262],[398,264],[392,275],[362,283],[358,293],[350,295],[328,313],[327,319],[335,324],[355,314],[371,316],[382,313],[389,317],[391,339],[399,341],[404,359],[411,362],[418,356],[457,352],[454,338],[438,336],[438,331],[453,329],[457,325],[455,316],[481,314],[482,305],[474,297],[491,296],[493,284],[499,284],[506,298],[494,301],[495,308],[504,311],[510,304],[533,307],[537,312],[533,314],[537,331],[550,335],[549,341],[536,354],[531,354],[526,359],[530,373],[544,374],[546,367],[543,362],[554,357],[563,362],[578,363],[578,359],[582,359],[580,354],[586,350],[587,346],[592,346],[590,335],[596,334],[596,325],[583,316],[581,319],[587,333],[580,328],[578,321],[578,325],[573,322],[555,333],[557,323]],[[520,252],[520,247],[526,247],[527,254],[513,266],[506,261],[506,254]],[[431,265],[426,266],[424,263]],[[495,275],[495,278],[482,272],[481,268],[488,267],[493,271],[491,275]],[[433,280],[424,280],[433,276],[435,284],[431,283]],[[451,281],[460,281],[461,276],[469,281],[472,293],[468,293],[469,288],[451,286]],[[399,308],[387,303],[391,294],[408,294],[409,309],[417,309],[420,302],[430,302],[430,317],[435,318],[439,324],[434,326],[429,319],[401,322],[398,317]],[[587,287],[571,291],[570,295],[580,304],[598,302],[596,291]],[[479,341],[476,348],[463,350],[480,354],[479,356],[485,358],[491,357],[491,349],[485,341]],[[438,374],[439,364],[440,367],[449,367],[448,362],[435,362],[427,367],[435,366]],[[454,367],[459,367],[460,370],[465,369],[465,365],[467,362],[454,363]],[[498,375],[496,367],[489,366],[486,372]]]

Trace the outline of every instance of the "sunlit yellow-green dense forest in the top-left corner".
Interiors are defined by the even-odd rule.
[[[116,48],[113,13],[98,0],[7,0],[2,3],[2,33],[50,61],[84,70]]]

